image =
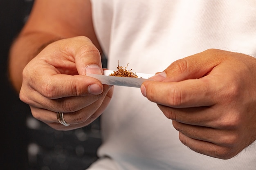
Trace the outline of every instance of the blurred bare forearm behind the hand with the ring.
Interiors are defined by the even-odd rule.
[[[22,84],[22,71],[45,46],[62,39],[47,33],[20,34],[11,46],[9,55],[9,78],[17,92]]]

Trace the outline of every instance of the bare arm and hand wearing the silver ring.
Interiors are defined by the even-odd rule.
[[[112,97],[111,86],[85,76],[103,73],[100,53],[90,0],[36,0],[11,48],[10,79],[36,119],[57,130],[80,128]],[[70,126],[59,124],[56,112]]]

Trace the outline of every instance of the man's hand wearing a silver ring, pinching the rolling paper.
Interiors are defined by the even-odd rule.
[[[86,126],[105,110],[112,97],[111,86],[86,73],[103,73],[100,53],[92,42],[82,36],[56,41],[25,67],[20,99],[29,104],[36,119],[52,128]],[[58,123],[56,112],[63,112],[70,126]]]

